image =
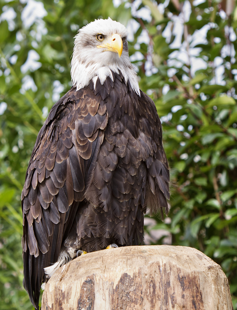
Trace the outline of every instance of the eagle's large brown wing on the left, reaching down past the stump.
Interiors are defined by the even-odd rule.
[[[108,121],[105,112],[100,96],[72,88],[38,134],[22,191],[23,284],[37,309],[44,268],[57,261],[84,199]]]

